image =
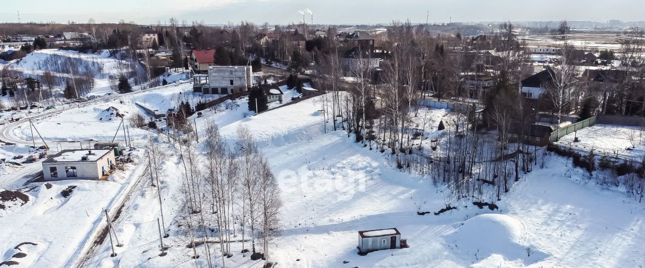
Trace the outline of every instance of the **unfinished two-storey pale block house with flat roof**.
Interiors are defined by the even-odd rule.
[[[210,66],[208,76],[194,75],[193,91],[204,95],[248,91],[253,86],[252,72],[251,66]]]

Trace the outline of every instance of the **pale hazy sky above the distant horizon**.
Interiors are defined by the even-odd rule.
[[[85,23],[117,22],[156,24],[176,17],[179,21],[206,24],[299,23],[299,10],[312,10],[313,22],[321,24],[376,24],[410,19],[425,23],[452,21],[622,21],[645,20],[644,0],[29,0],[3,1],[0,21],[55,21]],[[28,3],[28,4],[27,4]],[[311,16],[306,15],[310,23]]]

